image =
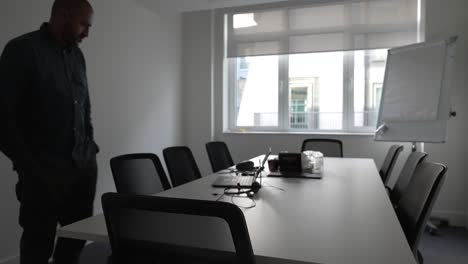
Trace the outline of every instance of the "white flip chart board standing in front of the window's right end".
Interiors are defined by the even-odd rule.
[[[456,37],[388,51],[376,141],[445,142]]]

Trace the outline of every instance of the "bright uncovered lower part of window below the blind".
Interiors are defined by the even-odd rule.
[[[372,50],[230,59],[235,69],[230,78],[235,82],[229,85],[235,105],[231,129],[371,131],[386,54]]]

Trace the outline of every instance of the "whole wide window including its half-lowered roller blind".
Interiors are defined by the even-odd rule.
[[[417,42],[418,8],[360,0],[226,13],[228,129],[373,131],[387,49]]]

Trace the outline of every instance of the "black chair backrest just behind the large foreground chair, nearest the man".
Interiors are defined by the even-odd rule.
[[[155,194],[171,188],[155,154],[125,154],[112,158],[110,165],[119,193]]]

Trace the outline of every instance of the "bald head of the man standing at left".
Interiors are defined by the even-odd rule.
[[[55,0],[49,25],[64,45],[76,45],[88,37],[93,8],[87,0]]]

